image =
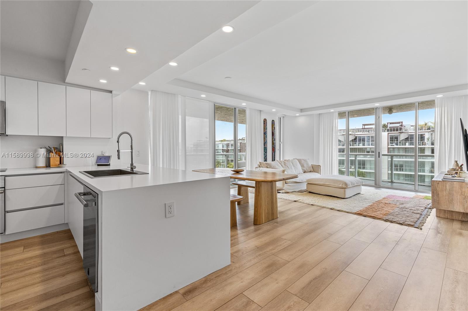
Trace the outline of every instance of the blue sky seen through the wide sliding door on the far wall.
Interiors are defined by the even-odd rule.
[[[435,109],[424,109],[419,111],[419,124],[434,122]],[[383,114],[382,123],[403,121],[404,125],[414,125],[415,112],[406,111],[401,113]],[[374,123],[374,116],[350,118],[350,128],[362,128],[363,124]],[[345,119],[338,120],[338,129],[345,129]]]

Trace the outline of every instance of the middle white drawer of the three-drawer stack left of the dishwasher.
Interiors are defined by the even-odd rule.
[[[5,190],[5,210],[13,211],[23,208],[64,203],[65,186],[31,187]]]

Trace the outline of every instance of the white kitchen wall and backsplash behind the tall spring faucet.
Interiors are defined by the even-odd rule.
[[[91,112],[92,113],[92,112]],[[113,164],[130,164],[130,152],[122,152],[121,160],[117,160],[117,135],[129,132],[133,136],[133,162],[135,164],[149,163],[149,114],[148,92],[129,89],[113,98],[112,102],[112,138],[64,137],[64,151],[67,153],[93,153],[100,155],[106,151],[112,155]],[[120,138],[120,148],[130,149],[130,137]],[[137,155],[139,151],[139,155]],[[81,166],[94,163],[94,158],[88,162],[86,158],[67,158],[69,166]],[[137,168],[138,170],[138,168]]]

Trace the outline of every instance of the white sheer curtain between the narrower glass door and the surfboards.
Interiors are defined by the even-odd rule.
[[[263,161],[263,123],[260,110],[247,108],[247,170]]]

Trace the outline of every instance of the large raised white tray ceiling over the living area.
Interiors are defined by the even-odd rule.
[[[467,1],[321,1],[177,79],[299,109],[466,84],[467,20]]]

